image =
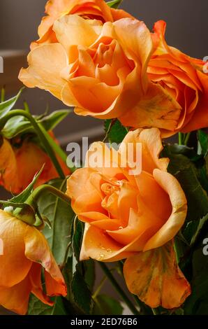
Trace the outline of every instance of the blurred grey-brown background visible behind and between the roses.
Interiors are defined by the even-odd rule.
[[[29,44],[37,38],[37,27],[44,14],[45,2],[0,0],[0,55],[6,54],[8,57],[5,71],[0,73],[0,87],[6,81],[8,97],[20,87],[17,74],[22,65],[26,66],[24,52],[29,52]],[[207,0],[124,0],[121,8],[144,20],[149,29],[152,29],[157,20],[165,20],[168,23],[166,38],[170,45],[192,57],[202,59],[208,55]],[[24,90],[23,99],[29,102],[33,113],[43,113],[47,105],[50,110],[65,108],[64,104],[48,92],[38,89]],[[21,103],[20,101],[19,105]],[[63,144],[71,139],[78,141],[82,136],[96,140],[102,135],[101,125],[99,120],[75,116],[72,113],[68,120],[57,128],[57,136],[62,138]],[[3,197],[6,197],[6,194],[0,190],[0,199]],[[98,280],[102,275],[98,275]],[[110,286],[105,286],[106,292],[112,293]]]

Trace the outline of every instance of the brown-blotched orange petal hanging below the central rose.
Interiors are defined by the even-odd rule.
[[[177,266],[172,242],[132,255],[124,263],[128,289],[150,307],[180,307],[191,288]]]

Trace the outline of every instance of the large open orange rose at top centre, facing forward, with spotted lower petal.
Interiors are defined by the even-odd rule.
[[[143,22],[84,20],[65,15],[53,25],[59,43],[35,48],[29,68],[20,71],[27,87],[49,90],[75,113],[119,118],[126,126],[173,130],[180,106],[159,84],[149,81],[153,52]]]

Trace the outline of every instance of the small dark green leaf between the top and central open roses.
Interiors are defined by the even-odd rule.
[[[123,127],[119,120],[105,120],[105,133],[110,143],[120,144],[128,133],[128,129]]]

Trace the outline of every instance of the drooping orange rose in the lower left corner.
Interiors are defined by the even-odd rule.
[[[18,314],[26,314],[33,293],[48,305],[47,296],[66,296],[66,284],[45,237],[34,227],[0,210],[0,304]],[[46,294],[41,271],[45,269]]]

